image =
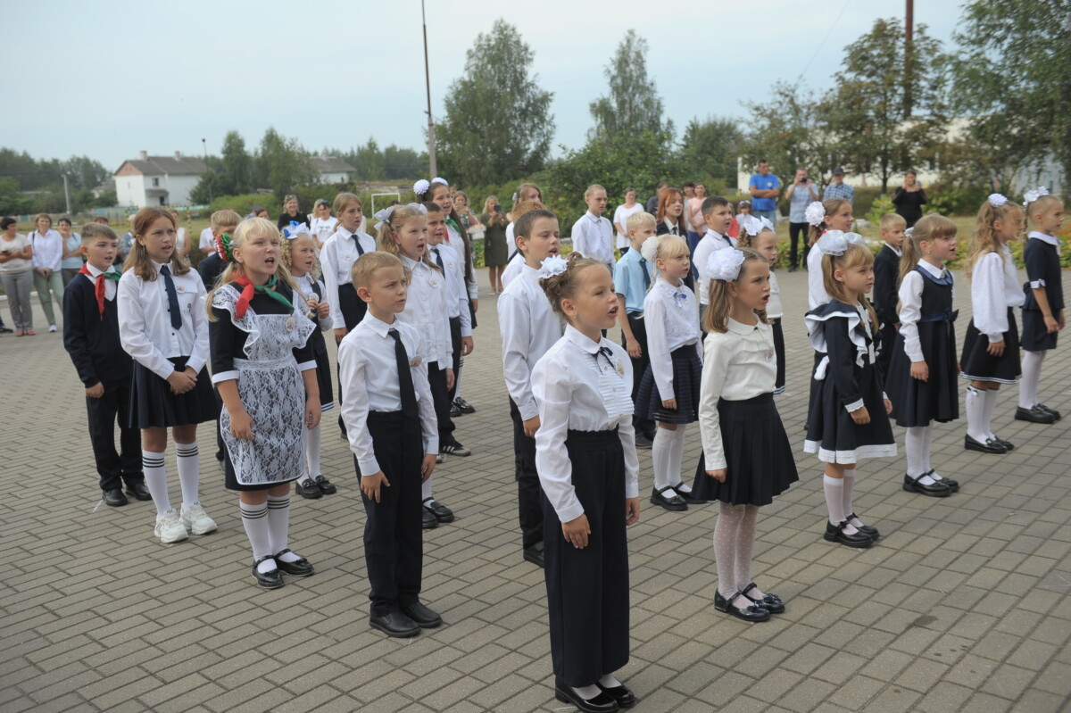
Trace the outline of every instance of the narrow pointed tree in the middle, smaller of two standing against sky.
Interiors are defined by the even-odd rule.
[[[613,141],[632,138],[639,132],[665,134],[673,138],[673,120],[662,121],[665,112],[654,80],[647,78],[647,41],[635,30],[624,33],[609,64],[603,69],[609,84],[609,96],[600,96],[588,109],[594,127],[589,138]]]

